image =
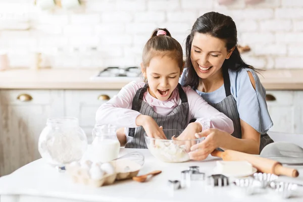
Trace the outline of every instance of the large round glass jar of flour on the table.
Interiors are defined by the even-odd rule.
[[[79,161],[87,148],[87,137],[74,117],[49,118],[42,130],[39,153],[47,163],[64,166]]]

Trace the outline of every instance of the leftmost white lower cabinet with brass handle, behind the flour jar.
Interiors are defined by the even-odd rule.
[[[0,176],[40,158],[40,132],[63,104],[62,90],[0,90]]]

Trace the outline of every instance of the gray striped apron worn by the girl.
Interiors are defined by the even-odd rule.
[[[187,123],[188,117],[188,102],[187,96],[182,89],[181,85],[178,84],[179,96],[181,99],[181,105],[177,106],[170,114],[163,116],[157,114],[150,105],[143,101],[143,94],[148,89],[148,85],[145,84],[144,87],[137,90],[133,102],[132,110],[135,110],[142,115],[148,115],[153,117],[159,126],[162,126],[163,129],[182,129],[184,130]],[[136,128],[129,128],[128,136],[126,136],[125,148],[147,148],[145,138],[144,138],[144,129],[142,126]],[[171,139],[174,134],[169,134],[167,132],[167,139]]]

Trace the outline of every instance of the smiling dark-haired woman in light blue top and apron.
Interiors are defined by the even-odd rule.
[[[259,154],[273,142],[266,134],[273,126],[255,68],[245,64],[237,49],[237,29],[231,17],[210,12],[197,18],[186,39],[186,69],[182,86],[191,86],[210,105],[233,120],[230,135],[210,129],[195,136],[205,141],[193,145],[190,156],[205,159],[215,148]]]

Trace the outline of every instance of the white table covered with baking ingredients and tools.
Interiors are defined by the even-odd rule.
[[[278,136],[274,139],[277,140],[277,138]],[[278,139],[283,140],[283,138]],[[134,150],[140,151],[145,156],[145,164],[139,174],[153,170],[162,170],[162,173],[145,183],[126,180],[108,186],[92,188],[82,184],[74,184],[66,173],[57,172],[55,168],[39,159],[0,178],[0,201],[285,201],[273,190],[247,196],[243,194],[243,189],[235,186],[211,187],[203,182],[192,182],[190,188],[180,189],[172,194],[168,191],[167,181],[169,179],[180,179],[180,172],[187,169],[188,166],[199,166],[201,171],[206,172],[207,175],[211,174],[216,161],[219,159],[209,156],[203,162],[191,161],[172,164],[155,159],[147,149],[121,148],[120,154],[123,155]],[[280,179],[303,184],[303,166],[296,168],[300,172],[298,178],[281,177]],[[303,188],[298,189],[295,196],[287,201],[303,201]]]

